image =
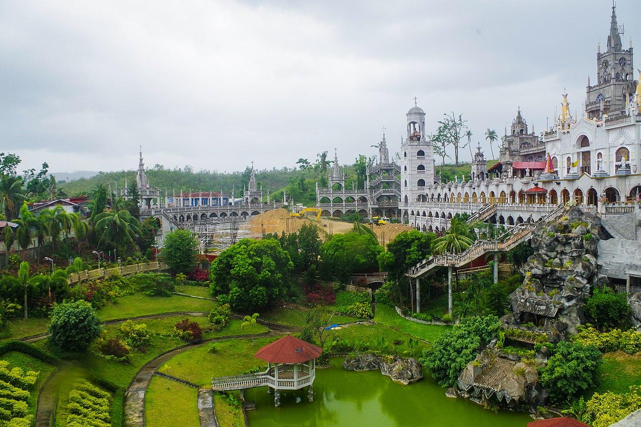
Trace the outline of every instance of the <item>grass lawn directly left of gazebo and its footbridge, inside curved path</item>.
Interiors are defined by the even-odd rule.
[[[244,373],[253,367],[267,367],[267,363],[254,357],[254,353],[265,344],[278,338],[228,339],[188,349],[167,360],[158,371],[191,381],[201,387],[211,385],[215,376]],[[210,353],[211,346],[216,347]]]

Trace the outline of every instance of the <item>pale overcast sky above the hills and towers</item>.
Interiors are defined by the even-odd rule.
[[[519,105],[542,131],[567,87],[580,115],[611,6],[3,0],[0,152],[51,171],[135,169],[138,145],[148,167],[291,167],[334,147],[351,163],[383,126],[399,151],[417,97],[428,131],[462,113],[490,157],[485,129],[503,135]],[[617,17],[640,49],[638,0]]]

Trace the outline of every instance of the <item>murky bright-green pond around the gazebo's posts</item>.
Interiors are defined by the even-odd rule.
[[[528,414],[495,414],[467,399],[446,398],[429,374],[403,385],[379,371],[345,371],[341,363],[335,358],[333,367],[316,370],[313,402],[303,390],[281,392],[276,408],[267,387],[247,390],[247,400],[256,402],[256,411],[247,412],[249,425],[524,427],[532,421]]]

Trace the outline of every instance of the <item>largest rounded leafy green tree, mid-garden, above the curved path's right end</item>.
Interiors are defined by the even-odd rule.
[[[212,262],[210,291],[235,311],[260,311],[287,296],[292,269],[278,240],[242,239]]]

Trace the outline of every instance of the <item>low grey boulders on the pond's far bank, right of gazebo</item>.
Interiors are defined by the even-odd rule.
[[[379,369],[381,374],[387,375],[392,380],[408,385],[423,378],[419,362],[414,358],[399,356],[376,356],[372,353],[347,355],[343,361],[343,368],[349,371],[373,371]]]

